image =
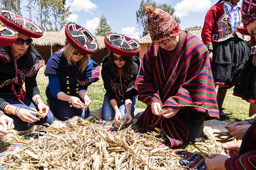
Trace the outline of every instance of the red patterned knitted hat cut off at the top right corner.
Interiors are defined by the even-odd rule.
[[[256,0],[243,0],[242,21],[247,26],[256,19]]]

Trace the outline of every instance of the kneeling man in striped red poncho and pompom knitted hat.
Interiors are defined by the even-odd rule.
[[[145,10],[153,42],[137,78],[139,100],[148,105],[137,125],[161,128],[171,147],[200,141],[204,120],[219,117],[208,50],[165,11]]]

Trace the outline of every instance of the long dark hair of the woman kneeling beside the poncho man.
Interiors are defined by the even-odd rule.
[[[125,60],[125,64],[123,67],[121,67],[122,70],[122,78],[132,78],[132,75],[134,74],[134,59],[133,57],[127,57]],[[114,61],[114,55],[113,52],[108,53],[108,68],[110,68],[111,74],[115,74],[117,77],[119,77],[119,67],[116,65]]]

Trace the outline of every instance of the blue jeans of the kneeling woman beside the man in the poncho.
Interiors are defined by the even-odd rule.
[[[132,118],[134,117],[136,102],[137,102],[137,98],[136,98],[136,96],[133,96],[133,98],[132,98],[132,107],[131,107]],[[118,105],[118,109],[121,112],[122,120],[124,120],[124,115],[126,114],[126,108],[125,108],[124,100],[122,100],[122,102]],[[102,112],[101,117],[102,117],[103,120],[105,120],[107,122],[114,120],[115,111],[114,111],[113,107],[111,106],[107,95],[104,96],[101,112]]]

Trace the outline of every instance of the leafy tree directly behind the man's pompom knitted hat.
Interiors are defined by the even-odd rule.
[[[180,24],[180,19],[179,17],[174,15],[174,8],[172,8],[171,5],[167,5],[167,4],[157,4],[155,0],[141,0],[140,2],[140,8],[138,11],[136,11],[136,20],[137,20],[137,24],[139,25],[139,28],[141,30],[143,30],[142,33],[142,37],[144,37],[145,35],[147,35],[148,32],[148,21],[147,21],[147,14],[145,13],[145,7],[147,5],[152,5],[154,8],[160,8],[164,11],[166,11],[167,13],[169,13],[178,24]]]

